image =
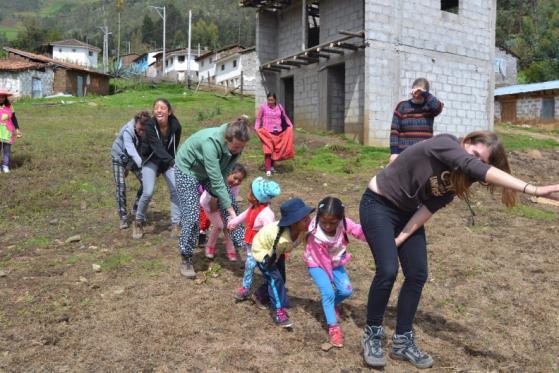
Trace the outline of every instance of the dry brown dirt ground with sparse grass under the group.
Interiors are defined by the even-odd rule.
[[[513,152],[511,159],[523,179],[558,181],[557,150]],[[256,169],[257,162],[248,163]],[[341,182],[297,170],[279,174],[283,194],[273,207],[277,211],[281,201],[295,195],[312,205],[336,195],[348,215],[358,219],[360,197],[374,173]],[[25,181],[11,180],[15,189],[24,187]],[[107,188],[112,193],[110,174]],[[354,260],[347,268],[354,295],[342,307],[346,345],[323,352],[327,333],[320,298],[301,250],[288,261],[294,322],[289,332],[275,327],[269,312],[251,302],[234,302],[242,270],[225,259],[223,250],[213,263],[197,251],[195,268],[200,274],[208,271],[205,282],[179,275],[167,196],[160,180],[141,241],[131,239],[130,229],[118,230],[114,207],[67,206],[64,201],[49,206],[30,226],[0,232],[0,371],[369,370],[360,347],[374,275],[366,245],[350,244]],[[521,200],[559,212],[554,206],[534,206],[524,196]],[[427,226],[430,274],[415,331],[420,347],[435,360],[431,371],[559,372],[558,222],[511,213],[482,188],[473,208],[473,226],[461,201]],[[17,221],[17,216],[3,218]],[[75,234],[79,241],[66,242]],[[386,314],[389,337],[401,277]],[[386,372],[415,371],[407,363],[387,360]]]

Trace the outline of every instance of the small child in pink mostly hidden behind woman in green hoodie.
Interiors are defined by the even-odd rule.
[[[246,176],[247,170],[242,164],[236,163],[231,169],[226,182],[228,188],[230,188],[230,196],[232,200],[235,200],[239,195],[240,185]],[[215,257],[217,238],[219,233],[223,231],[227,258],[232,262],[236,261],[237,253],[235,246],[229,237],[229,233],[226,229],[224,229],[223,217],[221,216],[218,208],[217,198],[212,196],[206,190],[200,196],[200,206],[202,206],[205,210],[206,216],[211,223],[211,231],[208,236],[208,242],[206,243],[206,258],[213,259]]]

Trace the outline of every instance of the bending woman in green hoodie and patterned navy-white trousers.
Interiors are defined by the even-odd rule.
[[[194,133],[181,145],[175,158],[175,180],[181,211],[179,250],[180,272],[195,278],[192,255],[200,224],[200,195],[205,189],[217,197],[224,226],[237,216],[236,201],[231,198],[225,179],[250,139],[245,117]],[[242,227],[231,232],[235,247],[242,247]]]

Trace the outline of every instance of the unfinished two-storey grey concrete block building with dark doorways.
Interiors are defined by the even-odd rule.
[[[296,126],[386,146],[417,77],[445,103],[435,132],[493,127],[496,0],[241,0],[257,9],[256,105]]]

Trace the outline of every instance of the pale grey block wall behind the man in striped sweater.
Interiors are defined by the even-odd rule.
[[[365,0],[364,141],[386,146],[392,111],[424,76],[445,103],[436,133],[493,128],[496,1],[462,0],[458,14],[439,0]]]

